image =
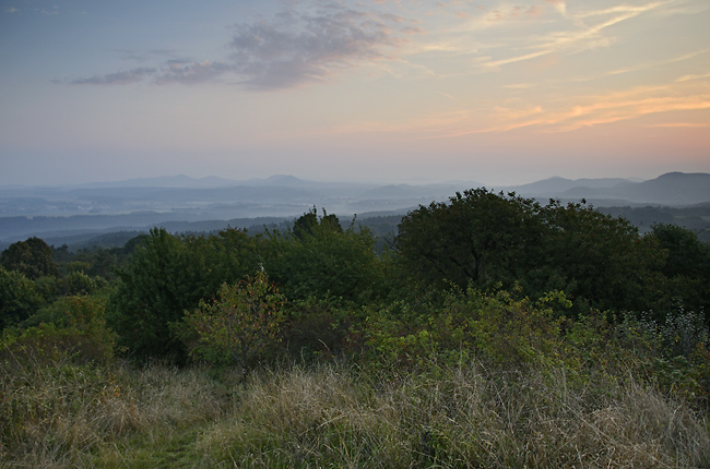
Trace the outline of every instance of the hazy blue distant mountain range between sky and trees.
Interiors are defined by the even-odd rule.
[[[145,230],[169,223],[293,219],[311,207],[358,217],[405,214],[442,202],[474,181],[438,184],[322,182],[276,175],[244,181],[188,176],[132,179],[74,187],[0,187],[0,243],[28,236],[109,230]],[[488,189],[596,207],[710,206],[710,175],[670,172],[648,181],[549,178],[530,184]],[[246,224],[246,221],[245,221]],[[181,225],[185,226],[185,225]]]

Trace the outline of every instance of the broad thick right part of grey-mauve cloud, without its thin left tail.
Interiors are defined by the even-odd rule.
[[[255,89],[321,82],[344,70],[388,59],[404,39],[394,15],[331,7],[316,13],[282,12],[271,21],[236,25],[229,43],[235,71]]]

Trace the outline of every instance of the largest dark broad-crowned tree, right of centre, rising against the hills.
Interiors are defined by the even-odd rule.
[[[401,270],[425,285],[517,285],[536,298],[564,290],[576,310],[641,311],[659,262],[628,220],[588,205],[542,206],[514,193],[457,193],[409,213],[395,250]]]

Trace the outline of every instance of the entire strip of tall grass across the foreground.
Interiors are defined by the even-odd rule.
[[[240,372],[21,363],[1,373],[9,468],[710,467],[707,414],[631,374],[561,366]]]

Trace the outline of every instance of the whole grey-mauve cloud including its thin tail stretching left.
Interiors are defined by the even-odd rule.
[[[199,84],[232,75],[250,89],[283,89],[338,77],[348,69],[388,60],[423,34],[401,16],[323,2],[315,11],[284,10],[270,19],[233,26],[225,60],[168,60],[72,81],[76,85],[118,85],[150,80],[158,85]],[[145,61],[150,55],[130,53]]]

